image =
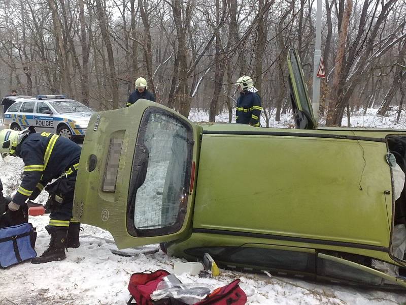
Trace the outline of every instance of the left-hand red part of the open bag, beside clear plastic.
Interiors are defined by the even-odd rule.
[[[156,290],[159,282],[163,277],[170,275],[168,271],[156,270],[152,273],[149,271],[133,273],[128,283],[128,290],[131,293],[131,298],[127,304],[131,304],[133,299],[138,305],[153,305],[150,294]]]

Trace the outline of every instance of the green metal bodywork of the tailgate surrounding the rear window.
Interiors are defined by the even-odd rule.
[[[140,121],[147,107],[159,107],[182,117],[175,111],[157,103],[139,100],[136,104],[127,108],[94,114],[89,122],[89,128],[83,142],[78,178],[76,180],[74,217],[83,223],[108,230],[112,233],[119,248],[148,245],[180,238],[184,234],[188,234],[186,228],[192,215],[194,192],[189,194],[185,222],[179,232],[163,237],[133,237],[127,232],[126,215],[132,160]],[[186,118],[183,119],[188,121]],[[194,138],[198,138],[200,129],[190,121],[188,122],[192,126]],[[115,192],[104,192],[104,171],[111,138],[123,139],[123,145]],[[193,146],[192,157],[195,162],[198,147],[199,142],[196,141]],[[97,165],[93,171],[88,170],[91,155],[95,155],[97,158]]]

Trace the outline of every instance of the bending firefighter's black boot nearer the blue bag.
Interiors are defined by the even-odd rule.
[[[47,226],[49,227],[49,226]],[[51,241],[49,242],[48,249],[40,257],[33,258],[32,264],[43,264],[52,261],[58,261],[66,258],[65,245],[67,228],[46,228],[48,233],[51,234]]]

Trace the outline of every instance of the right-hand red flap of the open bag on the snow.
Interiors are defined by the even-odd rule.
[[[247,295],[240,288],[239,283],[240,279],[236,279],[226,286],[217,288],[204,300],[194,305],[244,305],[247,302]]]

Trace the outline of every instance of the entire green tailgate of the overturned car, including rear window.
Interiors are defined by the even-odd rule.
[[[94,114],[79,162],[74,217],[110,231],[119,248],[187,234],[197,135],[189,120],[147,100]]]

